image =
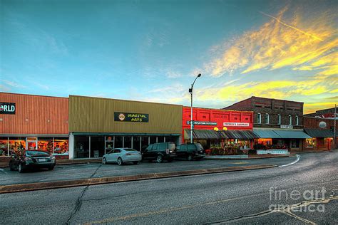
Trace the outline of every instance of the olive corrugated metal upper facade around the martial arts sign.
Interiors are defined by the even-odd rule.
[[[148,114],[149,121],[114,121],[114,112]],[[70,95],[69,132],[180,134],[182,105]]]

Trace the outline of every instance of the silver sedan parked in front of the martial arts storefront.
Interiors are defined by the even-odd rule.
[[[142,155],[138,150],[131,148],[116,148],[108,152],[102,157],[102,163],[107,164],[109,162],[116,162],[119,165],[123,165],[126,162],[133,162],[138,164],[142,160]]]

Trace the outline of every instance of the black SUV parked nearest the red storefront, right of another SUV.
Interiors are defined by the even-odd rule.
[[[189,161],[193,159],[203,159],[203,157],[205,157],[205,150],[200,143],[182,144],[176,147],[176,155]]]

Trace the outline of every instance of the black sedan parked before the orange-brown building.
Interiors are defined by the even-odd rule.
[[[31,168],[54,169],[56,159],[48,152],[39,150],[26,150],[21,155],[12,155],[9,161],[9,169],[24,172]]]

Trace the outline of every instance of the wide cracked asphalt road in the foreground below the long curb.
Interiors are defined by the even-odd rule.
[[[338,224],[337,159],[302,154],[271,169],[0,194],[0,223]]]

